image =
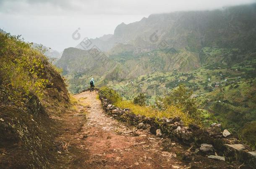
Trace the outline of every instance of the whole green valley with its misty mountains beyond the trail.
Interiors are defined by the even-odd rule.
[[[255,27],[256,4],[154,14],[90,39],[97,48],[65,49],[56,65],[72,93],[89,88],[93,77],[125,100],[146,93],[151,106],[183,84],[204,112],[204,125],[219,122],[244,138],[255,133],[246,131],[256,121]]]

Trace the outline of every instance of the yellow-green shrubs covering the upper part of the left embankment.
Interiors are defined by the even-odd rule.
[[[0,56],[0,94],[3,102],[22,106],[34,95],[42,98],[43,89],[52,84],[51,76],[47,74],[47,70],[52,70],[47,58],[20,36],[2,33]]]

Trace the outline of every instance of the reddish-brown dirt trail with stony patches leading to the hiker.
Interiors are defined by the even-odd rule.
[[[191,166],[179,156],[187,147],[107,116],[97,92],[83,92],[75,98],[80,104],[76,106],[77,111],[66,112],[60,119],[60,136],[55,140],[60,149],[59,162],[53,168],[184,169]],[[207,166],[201,160],[193,163],[202,168]]]

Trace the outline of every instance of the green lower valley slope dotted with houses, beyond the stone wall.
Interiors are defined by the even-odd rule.
[[[250,133],[255,132],[253,127],[256,121],[255,58],[256,53],[252,53],[251,60],[233,66],[212,64],[186,73],[173,71],[143,75],[113,87],[128,100],[144,92],[149,103],[154,104],[157,96],[184,84],[193,91],[198,107],[204,110],[203,122],[206,126],[219,122],[232,134],[251,140],[250,144],[254,145],[256,138]]]

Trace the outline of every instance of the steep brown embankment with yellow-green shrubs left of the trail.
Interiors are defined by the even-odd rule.
[[[70,106],[65,83],[19,37],[0,33],[0,56],[0,168],[48,168],[56,116]]]

